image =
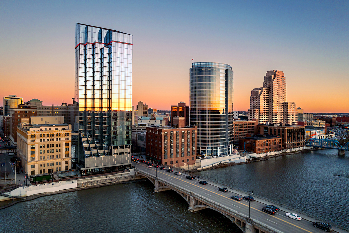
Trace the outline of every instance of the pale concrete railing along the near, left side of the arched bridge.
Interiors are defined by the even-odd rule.
[[[192,195],[193,197],[196,197],[196,198],[200,199],[201,201],[206,202],[210,206],[216,207],[217,209],[221,210],[222,212],[227,212],[227,213],[229,213],[229,214],[231,214],[233,216],[236,216],[236,217],[238,217],[240,219],[244,219],[245,221],[248,221],[247,220],[247,216],[245,216],[245,215],[243,215],[241,213],[238,213],[238,212],[236,212],[236,211],[234,211],[234,210],[232,210],[230,208],[227,208],[226,206],[223,206],[223,205],[221,205],[219,203],[216,203],[216,202],[214,202],[214,201],[212,201],[210,199],[207,199],[206,197],[203,197],[203,196],[201,196],[199,194],[194,194],[190,190],[187,190],[187,189],[184,189],[182,187],[179,187],[178,185],[172,184],[172,183],[170,183],[168,181],[165,181],[165,180],[163,180],[163,179],[161,179],[159,177],[155,177],[155,176],[150,175],[148,173],[142,172],[141,170],[138,170],[138,169],[136,169],[136,170],[137,170],[137,172],[142,173],[142,174],[144,174],[144,175],[146,175],[146,176],[148,176],[148,177],[150,177],[150,178],[152,178],[154,180],[160,181],[161,183],[163,183],[163,184],[165,184],[165,185],[167,185],[169,187],[175,188],[175,189],[177,189],[177,190],[179,190],[181,192],[184,192],[186,194]],[[252,224],[254,226],[258,226],[259,228],[262,228],[262,229],[264,229],[264,230],[266,230],[266,231],[268,231],[270,233],[281,233],[279,231],[275,231],[273,228],[270,228],[269,226],[264,225],[264,224],[262,224],[262,223],[260,223],[259,221],[256,221],[256,220],[252,220]]]

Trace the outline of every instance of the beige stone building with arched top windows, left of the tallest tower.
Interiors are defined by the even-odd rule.
[[[30,117],[17,126],[17,156],[28,175],[69,170],[72,167],[72,126],[64,116]]]

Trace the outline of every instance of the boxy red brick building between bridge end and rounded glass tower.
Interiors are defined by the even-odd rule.
[[[146,158],[170,167],[194,167],[196,126],[193,128],[147,127]]]

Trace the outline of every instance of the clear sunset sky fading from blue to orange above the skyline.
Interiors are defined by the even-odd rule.
[[[194,59],[232,66],[234,110],[281,70],[304,112],[349,112],[349,1],[1,2],[1,99],[71,104],[81,22],[133,35],[133,105],[189,104]]]

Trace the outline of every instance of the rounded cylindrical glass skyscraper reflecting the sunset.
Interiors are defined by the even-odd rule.
[[[228,155],[233,145],[233,71],[223,63],[190,68],[190,126],[197,126],[196,154]]]

